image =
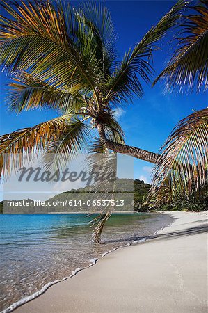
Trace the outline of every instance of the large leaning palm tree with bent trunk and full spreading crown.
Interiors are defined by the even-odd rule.
[[[34,151],[66,152],[70,158],[97,129],[100,148],[157,163],[159,154],[125,145],[115,108],[142,97],[150,81],[152,51],[175,26],[185,6],[180,0],[118,62],[109,11],[99,4],[72,8],[64,1],[2,2],[0,65],[11,74],[10,109],[58,109],[61,116],[0,137],[1,175]],[[89,127],[90,126],[90,127]],[[10,158],[3,154],[13,152]],[[19,160],[21,162],[21,160]]]

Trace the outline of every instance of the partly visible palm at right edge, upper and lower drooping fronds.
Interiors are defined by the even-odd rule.
[[[168,90],[190,92],[208,88],[208,4],[192,8],[182,26],[183,37],[168,66],[159,75]],[[184,35],[185,34],[185,35]],[[208,109],[181,120],[161,147],[153,171],[150,198],[157,204],[171,202],[178,195],[198,197],[208,189]],[[153,202],[154,203],[154,202]]]

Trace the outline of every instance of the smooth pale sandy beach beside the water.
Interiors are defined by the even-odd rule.
[[[154,238],[106,255],[15,312],[207,312],[206,214],[173,217]]]

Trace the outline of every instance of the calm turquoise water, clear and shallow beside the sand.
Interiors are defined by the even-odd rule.
[[[95,245],[91,219],[83,214],[0,215],[0,310],[170,223],[168,214],[115,214],[102,244]]]

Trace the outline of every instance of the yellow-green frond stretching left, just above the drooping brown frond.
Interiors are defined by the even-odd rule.
[[[31,109],[59,109],[63,113],[79,111],[85,104],[83,96],[73,88],[54,88],[26,72],[15,73],[9,83],[8,107],[17,113]]]

